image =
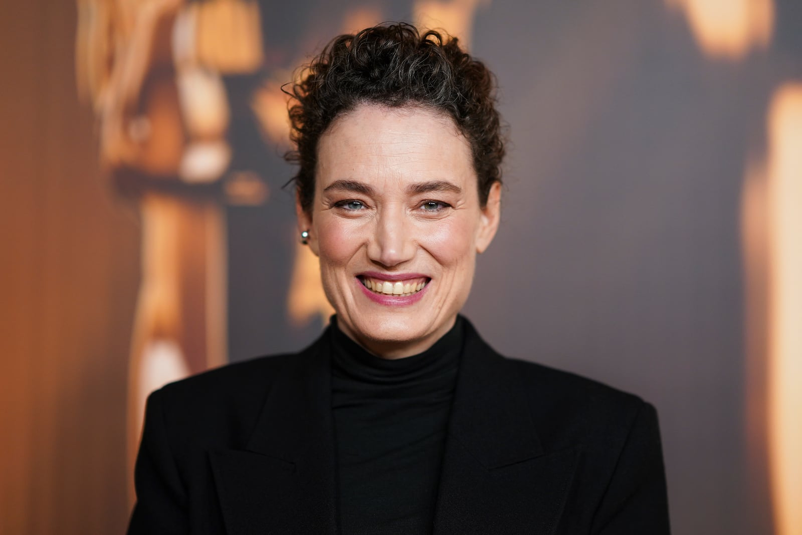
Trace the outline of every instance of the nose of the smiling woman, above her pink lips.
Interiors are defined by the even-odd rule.
[[[415,256],[415,240],[403,206],[387,206],[376,216],[368,256],[385,267],[395,267]]]

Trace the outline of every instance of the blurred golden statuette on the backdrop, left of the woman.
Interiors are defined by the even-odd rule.
[[[227,361],[225,204],[260,204],[266,187],[229,168],[222,77],[261,67],[261,26],[249,0],[78,6],[79,91],[98,119],[101,164],[141,218],[130,475],[148,394]]]

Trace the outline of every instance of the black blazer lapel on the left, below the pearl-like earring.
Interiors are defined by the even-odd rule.
[[[325,337],[294,356],[273,380],[245,448],[209,453],[230,535],[336,533]]]

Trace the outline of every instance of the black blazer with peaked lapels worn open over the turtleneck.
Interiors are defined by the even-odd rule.
[[[654,407],[465,323],[434,533],[669,533]],[[326,335],[150,395],[129,535],[337,533]]]

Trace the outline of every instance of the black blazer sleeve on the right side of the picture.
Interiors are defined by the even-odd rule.
[[[598,535],[670,533],[657,411],[649,403],[642,403],[635,415],[591,531]]]

